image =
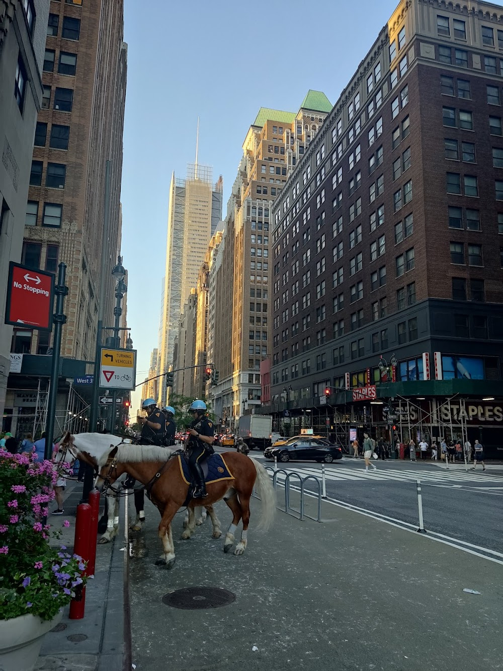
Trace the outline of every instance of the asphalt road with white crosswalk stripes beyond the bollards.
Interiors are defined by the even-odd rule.
[[[258,457],[264,465],[274,465],[258,452],[250,456]],[[445,466],[428,462],[372,462],[378,470],[368,474],[363,459],[345,457],[327,464],[327,496],[416,525],[419,478],[425,529],[503,552],[503,466],[490,466],[483,473],[480,466],[476,472],[466,472],[464,466],[445,470]],[[292,461],[278,464],[278,468],[321,477],[321,464],[316,462]]]

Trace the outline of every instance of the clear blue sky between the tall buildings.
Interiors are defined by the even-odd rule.
[[[145,378],[158,346],[168,187],[193,162],[223,175],[224,211],[259,107],[296,112],[309,89],[332,104],[397,0],[125,0],[128,44],[122,178],[127,321]],[[269,20],[267,20],[269,19]],[[132,410],[141,396],[133,396]]]

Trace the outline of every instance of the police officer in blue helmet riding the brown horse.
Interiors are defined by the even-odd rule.
[[[190,434],[186,449],[188,450],[188,465],[192,471],[195,483],[194,499],[205,499],[206,484],[205,476],[201,463],[213,454],[213,435],[215,429],[213,422],[206,416],[206,403],[204,401],[194,401],[188,409],[194,418],[187,429]]]

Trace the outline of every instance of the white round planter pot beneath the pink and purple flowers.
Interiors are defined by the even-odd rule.
[[[19,615],[0,620],[1,671],[32,671],[38,659],[42,639],[62,620],[62,611],[52,620],[38,615]]]

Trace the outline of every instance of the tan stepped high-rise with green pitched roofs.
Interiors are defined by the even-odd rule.
[[[331,109],[321,91],[309,91],[298,112],[261,107],[243,142],[209,299],[219,333],[209,343],[220,377],[207,391],[215,413],[231,423],[260,406],[260,364],[272,348],[271,268],[279,253],[270,256],[271,207]]]

